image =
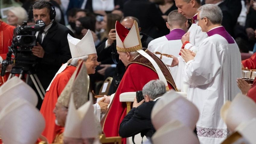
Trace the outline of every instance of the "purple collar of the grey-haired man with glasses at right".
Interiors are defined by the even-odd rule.
[[[208,31],[207,34],[209,37],[213,36],[214,34],[219,34],[222,37],[224,37],[228,41],[229,44],[235,43],[234,39],[230,36],[230,34],[226,31],[226,29],[223,26],[214,28],[214,29]]]

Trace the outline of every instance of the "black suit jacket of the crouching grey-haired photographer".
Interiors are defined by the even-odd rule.
[[[151,137],[155,133],[151,123],[151,111],[155,103],[149,101],[137,108],[133,107],[121,122],[119,135],[124,138],[141,133],[142,136]]]

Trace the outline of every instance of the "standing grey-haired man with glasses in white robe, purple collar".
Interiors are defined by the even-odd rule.
[[[187,98],[199,109],[196,129],[200,143],[219,144],[229,135],[220,108],[241,92],[236,85],[236,79],[242,75],[241,54],[235,40],[221,26],[220,8],[206,4],[198,10],[195,22],[209,37],[200,43],[197,54],[186,49],[194,46],[190,34],[182,37],[185,49],[181,56],[186,62],[183,76],[189,84]]]

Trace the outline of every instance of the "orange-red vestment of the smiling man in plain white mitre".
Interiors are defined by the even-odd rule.
[[[40,113],[45,119],[46,126],[42,135],[45,136],[50,143],[53,142],[57,134],[57,130],[61,128],[61,126],[57,126],[55,124],[55,115],[53,114],[53,109],[59,95],[68,83],[69,78],[75,72],[75,69],[76,67],[74,66],[68,66],[63,72],[59,73],[53,80],[49,91],[47,91],[44,96]]]

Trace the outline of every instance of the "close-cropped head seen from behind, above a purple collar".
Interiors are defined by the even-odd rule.
[[[187,18],[178,13],[178,10],[171,11],[168,14],[167,22],[170,27],[183,27],[186,21]]]

